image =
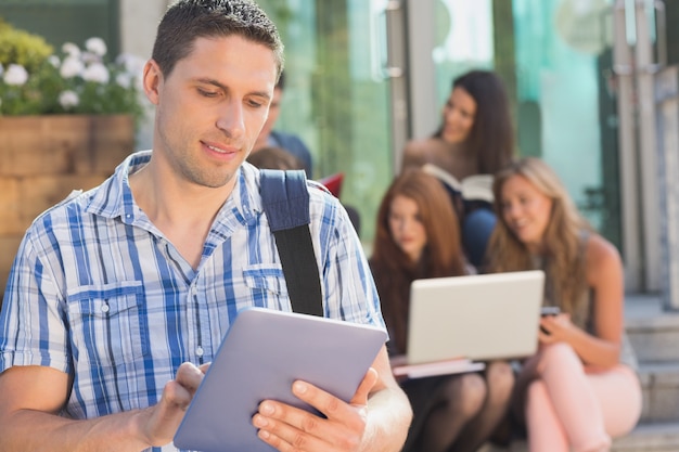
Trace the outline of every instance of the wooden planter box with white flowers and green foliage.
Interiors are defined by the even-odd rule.
[[[30,221],[133,151],[142,64],[95,37],[57,53],[0,20],[0,286]]]

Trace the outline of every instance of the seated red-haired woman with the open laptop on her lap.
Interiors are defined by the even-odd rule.
[[[456,214],[436,178],[411,169],[394,180],[377,214],[370,264],[389,352],[406,353],[412,281],[469,272]],[[403,451],[475,451],[505,414],[513,383],[507,362],[487,363],[484,373],[401,382],[414,411]]]

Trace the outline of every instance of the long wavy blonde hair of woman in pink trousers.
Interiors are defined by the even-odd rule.
[[[549,223],[542,236],[542,253],[533,256],[508,227],[502,215],[502,188],[513,177],[523,177],[552,199]],[[526,157],[516,160],[495,176],[492,185],[498,223],[488,243],[488,271],[509,272],[531,270],[534,259],[542,258],[546,272],[546,294],[549,302],[565,312],[574,312],[575,304],[587,288],[585,255],[581,244],[584,230],[591,230],[556,173],[541,159]]]

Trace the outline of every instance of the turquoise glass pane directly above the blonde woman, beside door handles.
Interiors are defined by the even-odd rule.
[[[602,159],[602,143],[615,145],[606,140],[610,130],[602,130],[613,114],[610,95],[605,115],[606,96],[600,99],[606,90],[601,63],[610,54],[607,2],[515,0],[513,10],[521,151],[555,168],[601,230],[618,205],[617,189],[604,191]],[[614,177],[607,182],[616,186]]]

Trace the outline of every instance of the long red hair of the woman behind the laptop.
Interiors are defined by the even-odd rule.
[[[418,262],[412,262],[392,236],[389,212],[396,196],[408,197],[418,205],[427,241]],[[392,182],[377,212],[370,264],[382,301],[384,320],[392,336],[390,346],[395,346],[398,352],[406,352],[412,281],[465,274],[458,218],[450,197],[438,179],[421,169],[412,168]]]

